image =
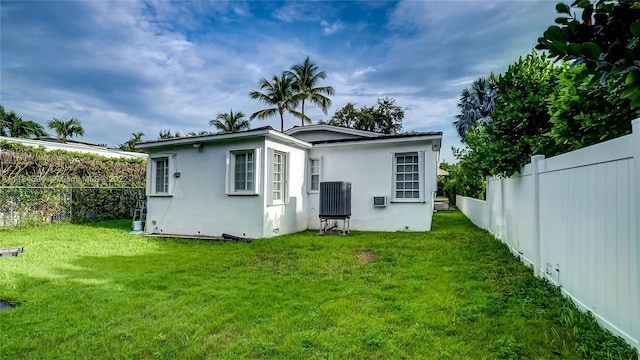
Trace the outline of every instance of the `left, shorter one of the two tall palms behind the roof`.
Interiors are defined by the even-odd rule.
[[[255,118],[266,119],[269,116],[273,116],[276,113],[280,114],[280,132],[284,131],[284,112],[288,111],[293,116],[302,119],[302,114],[295,110],[297,105],[297,98],[293,94],[293,79],[288,72],[283,72],[282,76],[274,75],[271,82],[262,78],[260,80],[260,90],[252,91],[249,96],[252,99],[260,100],[267,105],[273,107],[262,109],[251,114],[249,120]]]

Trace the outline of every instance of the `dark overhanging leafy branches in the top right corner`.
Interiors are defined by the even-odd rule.
[[[571,7],[579,11],[571,14]],[[556,5],[559,17],[538,38],[550,58],[584,63],[593,82],[624,84],[620,94],[640,112],[640,3],[576,0]],[[577,18],[580,14],[580,18]]]

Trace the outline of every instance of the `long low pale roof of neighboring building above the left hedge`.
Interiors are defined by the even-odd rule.
[[[58,140],[54,138],[21,139],[21,138],[11,138],[11,137],[0,136],[0,141],[18,143],[26,146],[31,146],[31,147],[42,147],[47,151],[66,150],[71,152],[100,155],[108,158],[127,158],[127,159],[146,159],[147,158],[147,154],[144,154],[144,153],[108,149],[104,146],[84,143],[84,142],[75,141],[75,140],[67,140],[67,142],[65,143],[65,142],[62,142],[62,140]]]

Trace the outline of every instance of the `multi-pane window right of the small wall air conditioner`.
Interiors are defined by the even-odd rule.
[[[394,155],[394,201],[421,201],[422,189],[420,173],[422,161],[420,153],[402,153]]]

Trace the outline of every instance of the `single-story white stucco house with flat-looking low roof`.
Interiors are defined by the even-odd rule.
[[[351,229],[428,231],[441,132],[262,127],[140,143],[148,233],[252,238],[318,229],[319,184],[348,181]],[[373,197],[385,196],[385,207]]]

